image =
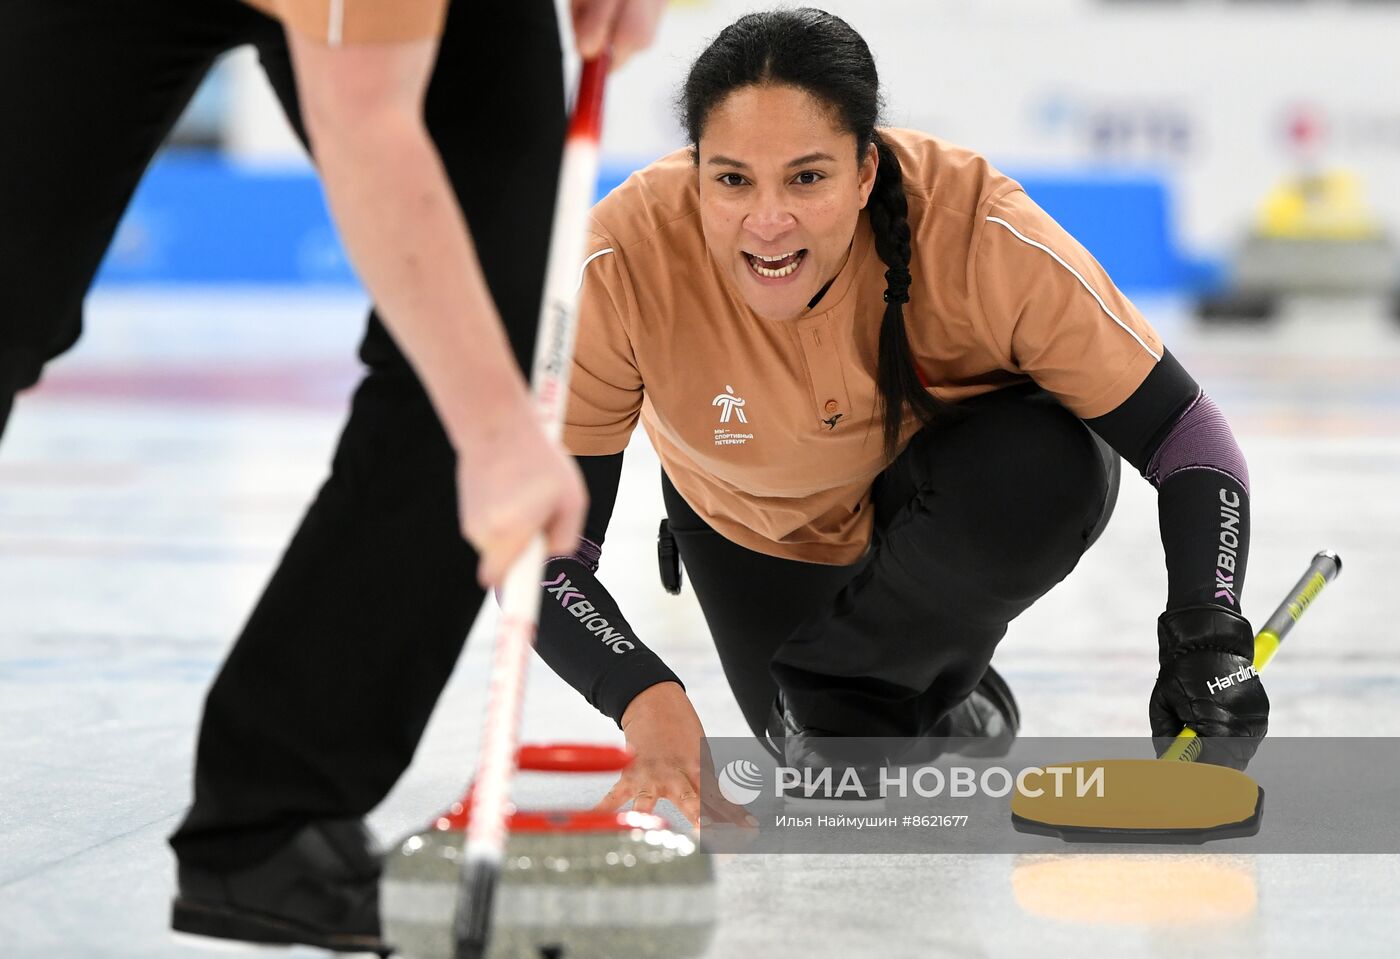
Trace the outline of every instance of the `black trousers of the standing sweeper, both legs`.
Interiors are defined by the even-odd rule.
[[[0,426],[77,340],[146,165],[213,60],[245,43],[301,130],[281,27],[235,0],[0,0]],[[452,4],[426,116],[524,364],[564,133],[553,3]],[[206,700],[171,840],[185,861],[235,868],[309,819],[378,804],[480,606],[454,452],[374,315],[360,357],[330,476]]]

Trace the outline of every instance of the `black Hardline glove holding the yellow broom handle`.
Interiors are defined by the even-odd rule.
[[[1183,606],[1162,613],[1156,638],[1148,720],[1158,753],[1189,725],[1203,738],[1201,762],[1245,769],[1268,731],[1249,620],[1221,606]]]

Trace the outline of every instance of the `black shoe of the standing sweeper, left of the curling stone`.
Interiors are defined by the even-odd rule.
[[[379,858],[358,819],[305,826],[258,865],[211,872],[181,864],[176,932],[332,952],[393,949],[379,935]]]

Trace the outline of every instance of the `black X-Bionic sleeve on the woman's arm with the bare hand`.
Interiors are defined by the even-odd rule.
[[[680,680],[643,645],[596,575],[617,498],[622,454],[577,459],[589,498],[584,542],[574,556],[554,557],[545,567],[535,650],[594,708],[620,725],[637,693]]]

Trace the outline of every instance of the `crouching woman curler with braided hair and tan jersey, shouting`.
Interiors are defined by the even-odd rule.
[[[1103,269],[981,155],[879,126],[830,14],[734,22],[680,105],[693,146],[594,213],[566,430],[594,505],[545,577],[540,655],[637,752],[606,802],[701,815],[701,724],[596,578],[638,420],[729,686],[788,764],[830,764],[825,736],[1015,735],[993,654],[1103,529],[1120,456],[1159,494],[1152,732],[1245,738],[1207,755],[1243,764],[1263,685],[1210,682],[1253,658],[1247,469]]]

